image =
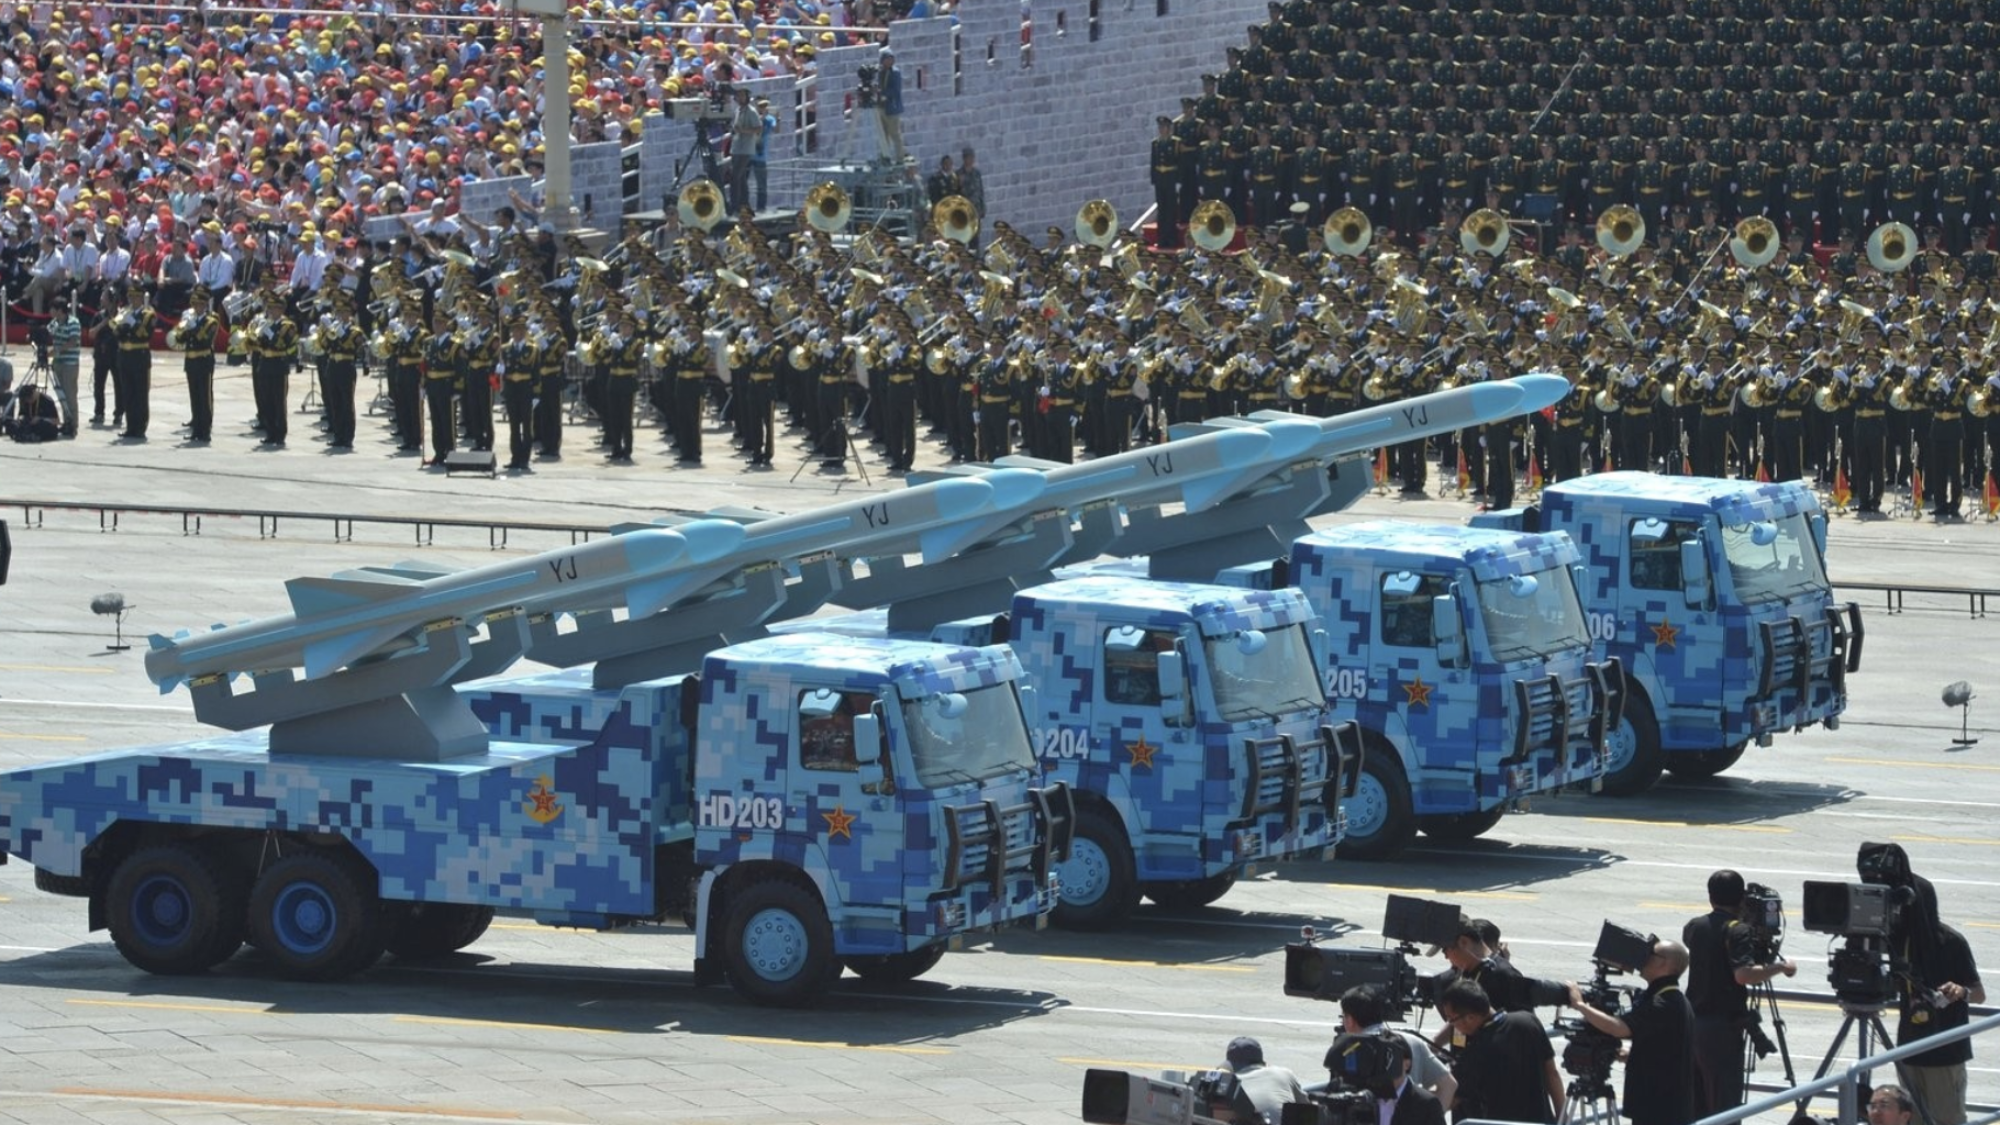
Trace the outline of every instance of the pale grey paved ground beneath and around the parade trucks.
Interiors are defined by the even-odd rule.
[[[18,356],[16,356],[18,358]],[[718,456],[674,470],[656,444],[636,466],[570,456],[520,478],[442,478],[396,458],[364,420],[362,450],[252,452],[236,422],[248,380],[224,378],[218,440],[178,448],[180,408],[160,396],[156,440],[94,432],[56,446],[0,446],[0,500],[200,502],[222,508],[472,514],[614,522],[712,504],[804,508],[858,478],[740,470]],[[302,418],[304,420],[304,418]],[[874,464],[870,464],[874,472]],[[874,486],[896,486],[880,476]],[[1360,514],[1462,518],[1464,502],[1370,498]],[[118,591],[134,633],[282,609],[282,581],[414,552],[402,528],[206,520],[182,536],[168,516],[100,532],[94,514],[14,520],[14,573],[0,589],[0,769],[194,735],[186,697],[158,697],[138,653],[106,653],[110,621],[88,601]],[[514,536],[514,548],[566,536]],[[1834,530],[1836,577],[1920,575],[1994,585],[2000,528],[1920,522]],[[490,560],[480,530],[440,532],[424,558]],[[1874,611],[1874,603],[1864,603]],[[1916,607],[1916,601],[1912,601]],[[820,1011],[768,1013],[694,989],[676,931],[582,935],[502,921],[444,967],[384,961],[346,987],[302,987],[252,955],[196,979],[132,971],[86,933],[82,905],[0,867],[0,1119],[58,1121],[1076,1121],[1086,1067],[1210,1065],[1240,1033],[1278,1063],[1318,1067],[1334,1009],[1286,999],[1280,947],[1300,923],[1374,941],[1386,891],[1436,893],[1492,915],[1538,975],[1586,971],[1604,917],[1672,933],[1698,913],[1708,871],[1732,865],[1794,907],[1802,879],[1852,879],[1854,847],[1896,839],[1928,875],[1976,955],[2000,965],[2000,829],[1990,813],[2000,727],[1974,707],[1984,743],[1954,749],[1954,679],[2000,691],[2000,621],[1934,601],[1868,615],[1854,707],[1836,731],[1752,751],[1730,775],[1668,783],[1632,801],[1562,799],[1502,821],[1492,839],[1418,845],[1394,865],[1282,869],[1218,907],[1142,909],[1104,935],[1006,935],[948,957],[908,989],[846,987]],[[1824,941],[1794,933],[1794,987],[1826,993]],[[1838,1027],[1830,1003],[1786,1003],[1802,1069]],[[1996,1049],[1982,1047],[1994,1057]],[[1848,1049],[1852,1057],[1852,1045]],[[1772,1077],[1764,1073],[1760,1077]],[[2000,1069],[1976,1061],[1972,1091],[2000,1101]]]

